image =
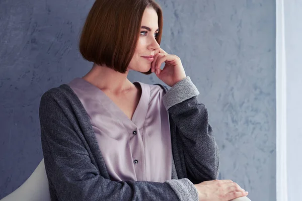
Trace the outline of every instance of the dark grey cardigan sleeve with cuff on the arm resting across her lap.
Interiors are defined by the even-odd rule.
[[[166,182],[104,178],[57,97],[43,94],[39,117],[45,169],[53,200],[198,200],[189,179]],[[72,113],[72,111],[71,111]],[[77,121],[77,119],[75,119]]]

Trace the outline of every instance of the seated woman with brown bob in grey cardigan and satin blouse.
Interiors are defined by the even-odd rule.
[[[93,5],[80,39],[81,54],[94,63],[91,71],[41,98],[52,200],[247,195],[231,180],[214,180],[219,153],[207,110],[180,58],[160,48],[162,30],[162,10],[153,0]],[[155,72],[172,88],[131,83],[129,70]]]

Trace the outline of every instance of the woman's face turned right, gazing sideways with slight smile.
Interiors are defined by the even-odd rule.
[[[128,70],[147,72],[153,61],[152,56],[160,51],[156,41],[159,32],[158,15],[153,8],[146,8],[142,20],[140,34],[134,55],[129,63]],[[151,58],[150,58],[151,57]]]

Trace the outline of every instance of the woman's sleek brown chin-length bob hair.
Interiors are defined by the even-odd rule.
[[[144,10],[153,8],[158,14],[161,44],[163,12],[153,0],[96,0],[80,37],[80,53],[84,59],[125,73],[134,55]],[[150,74],[142,72],[143,74]]]

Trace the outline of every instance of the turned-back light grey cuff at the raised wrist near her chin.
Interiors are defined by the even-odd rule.
[[[186,99],[199,94],[198,89],[191,81],[189,76],[174,84],[170,90],[163,96],[166,110],[172,106],[183,102]]]

